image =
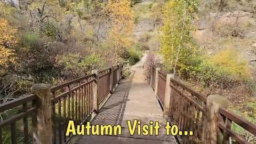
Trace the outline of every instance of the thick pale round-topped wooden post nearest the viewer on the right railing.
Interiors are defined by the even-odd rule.
[[[209,95],[206,102],[206,119],[205,119],[205,143],[218,143],[218,116],[220,108],[228,107],[228,99],[221,95]]]

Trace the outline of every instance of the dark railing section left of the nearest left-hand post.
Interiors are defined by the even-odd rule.
[[[6,131],[10,133],[10,140],[12,143],[17,143],[17,141],[19,141],[17,134],[17,123],[22,123],[22,142],[29,143],[29,140],[32,137],[31,133],[29,133],[29,124],[31,124],[31,122],[29,123],[29,119],[33,122],[36,120],[36,100],[37,97],[35,94],[29,94],[20,99],[15,99],[0,105],[1,114],[7,113],[10,111],[10,109],[13,111],[20,111],[20,113],[14,114],[11,117],[4,118],[3,115],[1,116],[2,122],[0,123],[0,143],[3,143],[3,141],[6,139]],[[2,137],[2,135],[5,135],[5,137]],[[6,141],[9,142],[9,140]]]

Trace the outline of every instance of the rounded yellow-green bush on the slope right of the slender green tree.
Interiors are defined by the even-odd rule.
[[[239,57],[237,51],[231,49],[223,50],[211,59],[199,58],[192,68],[190,75],[205,86],[231,87],[252,77],[248,63]]]

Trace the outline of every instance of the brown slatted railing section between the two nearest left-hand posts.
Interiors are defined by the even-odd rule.
[[[53,143],[67,141],[65,131],[68,121],[73,120],[75,125],[84,123],[94,112],[93,89],[95,82],[96,74],[91,74],[50,89],[52,93]]]

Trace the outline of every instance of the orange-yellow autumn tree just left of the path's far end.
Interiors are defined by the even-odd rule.
[[[131,44],[130,35],[134,29],[134,11],[131,10],[129,0],[110,0],[106,10],[111,29],[108,39],[113,45],[113,60],[118,58],[118,53]]]

